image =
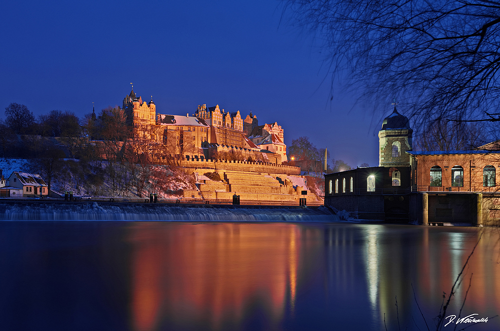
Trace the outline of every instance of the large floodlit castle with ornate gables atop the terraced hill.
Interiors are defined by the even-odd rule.
[[[219,105],[198,105],[194,114],[165,115],[152,101],[142,101],[132,90],[123,98],[126,124],[133,139],[147,137],[166,146],[168,157],[185,160],[230,158],[281,164],[286,161],[283,129],[274,122],[259,126],[251,112],[245,120],[238,111]],[[164,159],[165,156],[162,156]]]

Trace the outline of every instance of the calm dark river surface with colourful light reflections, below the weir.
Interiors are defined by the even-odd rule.
[[[1,222],[0,330],[435,330],[481,233],[446,315],[499,330],[497,228]]]

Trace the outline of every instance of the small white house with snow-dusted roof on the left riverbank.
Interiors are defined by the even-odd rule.
[[[10,197],[47,197],[47,184],[38,174],[14,171],[8,177]]]

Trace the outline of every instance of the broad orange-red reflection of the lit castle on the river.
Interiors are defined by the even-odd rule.
[[[296,225],[139,223],[130,230],[134,330],[238,326],[257,303],[276,325],[287,303],[294,309]]]

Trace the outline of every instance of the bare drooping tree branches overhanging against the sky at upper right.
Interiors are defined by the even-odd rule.
[[[383,105],[396,93],[418,122],[500,120],[491,114],[500,102],[499,1],[283,3],[291,24],[317,36],[332,80],[354,78],[352,87]]]

